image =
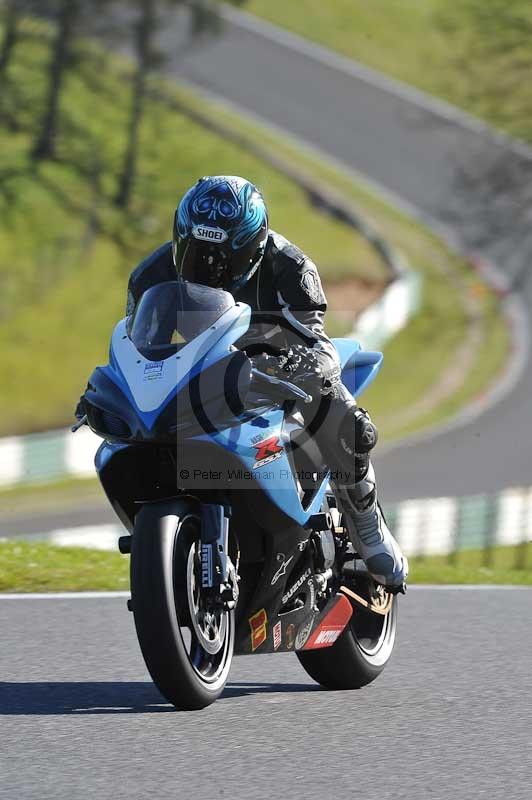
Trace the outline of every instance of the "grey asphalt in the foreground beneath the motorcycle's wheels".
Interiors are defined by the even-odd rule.
[[[123,598],[0,600],[0,798],[528,800],[531,614],[529,589],[418,588],[372,686],[238,658],[214,706],[178,712]]]

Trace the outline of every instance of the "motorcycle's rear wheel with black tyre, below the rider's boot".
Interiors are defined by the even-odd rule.
[[[305,671],[327,689],[360,689],[377,678],[391,658],[397,629],[397,598],[385,615],[353,610],[332,647],[297,653]]]

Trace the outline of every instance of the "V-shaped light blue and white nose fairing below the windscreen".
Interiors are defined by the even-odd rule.
[[[150,430],[166,405],[201,370],[224,358],[249,328],[251,309],[236,303],[208,330],[160,361],[145,358],[126,333],[126,319],[115,327],[109,365],[102,371],[125,394]],[[176,370],[179,379],[176,383]]]

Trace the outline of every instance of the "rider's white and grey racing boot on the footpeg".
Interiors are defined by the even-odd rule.
[[[361,480],[336,484],[335,494],[353,547],[374,580],[389,589],[401,589],[408,575],[408,560],[382,516],[371,462]]]

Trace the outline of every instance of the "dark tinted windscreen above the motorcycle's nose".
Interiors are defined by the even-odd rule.
[[[128,322],[137,350],[157,360],[192,341],[235,304],[232,295],[189,281],[167,281],[148,289]]]

